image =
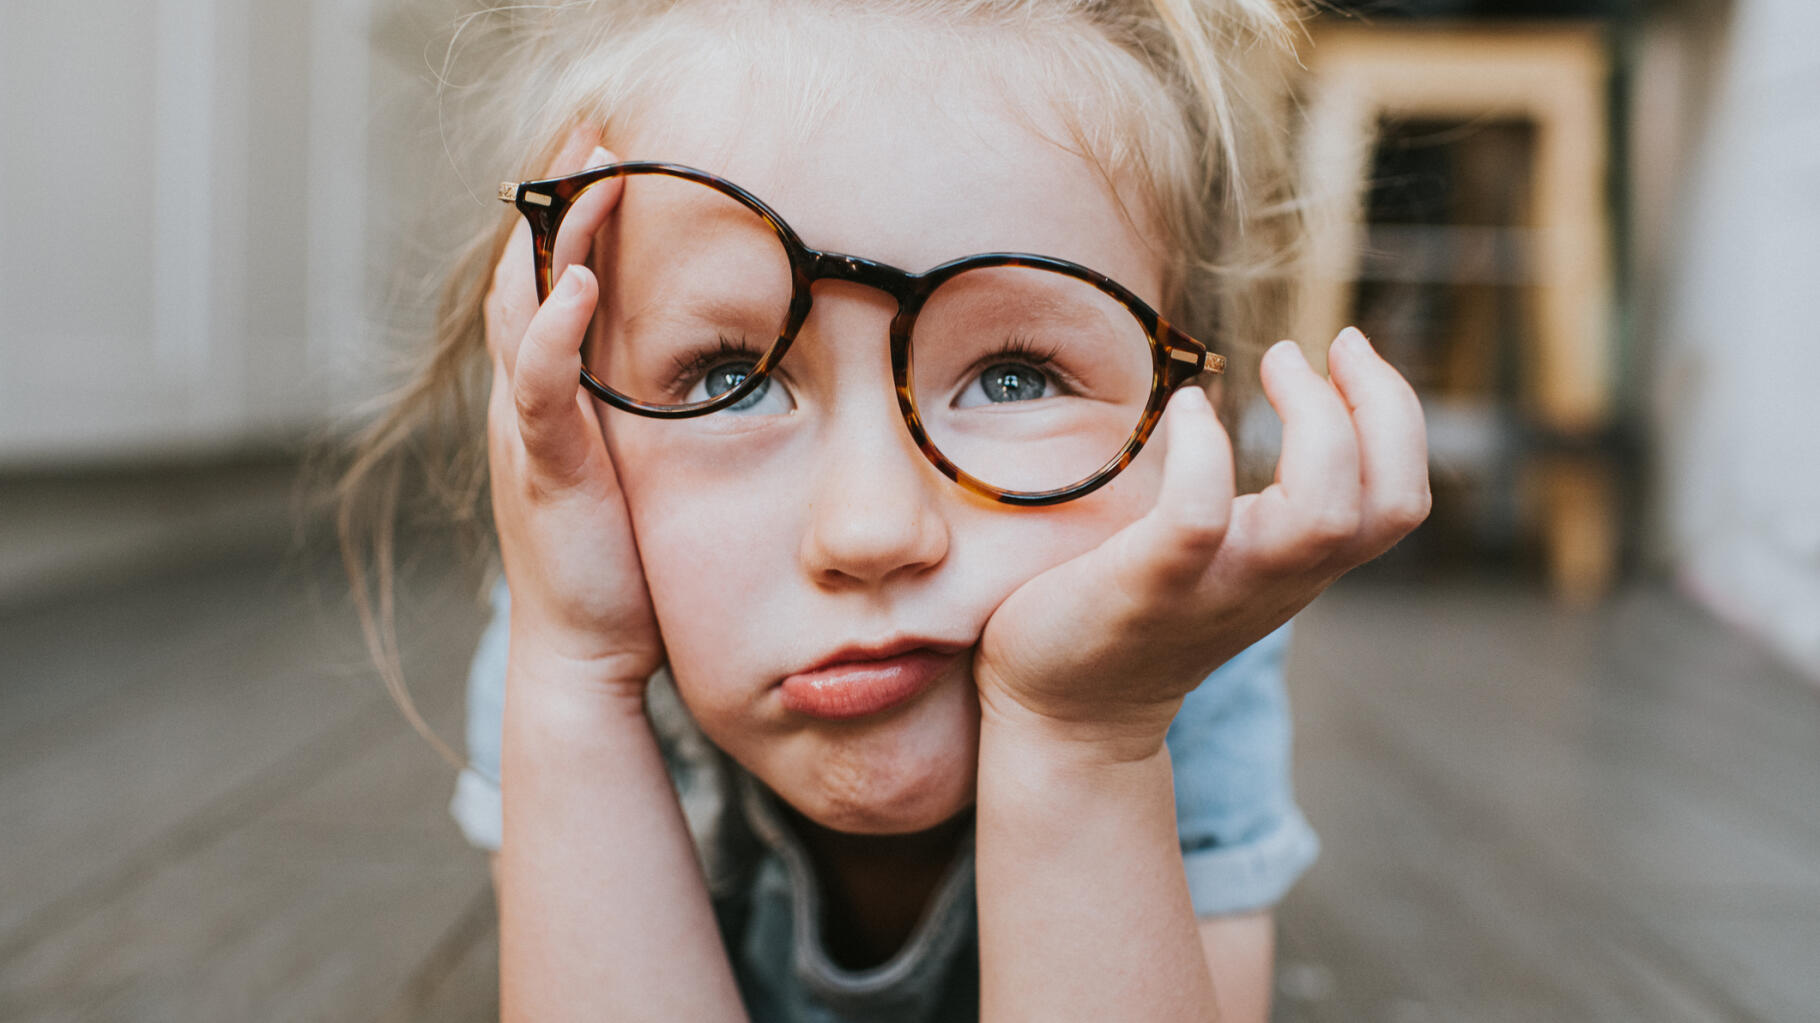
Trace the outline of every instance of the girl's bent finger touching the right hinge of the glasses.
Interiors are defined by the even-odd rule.
[[[1236,490],[1232,442],[1205,391],[1183,388],[1168,399],[1163,437],[1163,486],[1127,550],[1145,588],[1199,581],[1225,541]]]

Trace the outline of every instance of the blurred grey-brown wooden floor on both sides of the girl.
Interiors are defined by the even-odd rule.
[[[242,559],[0,617],[0,1019],[491,1018],[484,861],[342,593]],[[459,735],[473,582],[411,593]],[[1279,1023],[1820,1019],[1820,690],[1669,592],[1347,582],[1292,694]]]

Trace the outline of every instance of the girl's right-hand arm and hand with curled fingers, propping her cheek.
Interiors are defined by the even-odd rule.
[[[1265,357],[1283,455],[1259,493],[1234,493],[1205,399],[1172,397],[1156,508],[986,621],[974,677],[988,1023],[1263,1018],[1269,952],[1254,939],[1239,947],[1254,965],[1227,963],[1230,928],[1194,917],[1165,734],[1214,664],[1427,515],[1414,391],[1356,331],[1329,366],[1321,379],[1292,344]]]

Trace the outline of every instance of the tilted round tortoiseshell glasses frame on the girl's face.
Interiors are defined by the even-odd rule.
[[[943,475],[981,497],[1001,504],[1037,506],[1072,501],[1110,482],[1112,477],[1116,477],[1132,462],[1132,459],[1138,457],[1145,441],[1150,439],[1158,420],[1163,417],[1163,406],[1168,402],[1168,395],[1201,373],[1223,371],[1227,364],[1223,355],[1208,351],[1205,344],[1170,326],[1168,320],[1158,315],[1156,309],[1145,304],[1145,300],[1134,295],[1128,288],[1077,262],[1032,253],[979,253],[943,262],[941,266],[923,273],[910,273],[863,257],[812,249],[803,244],[803,238],[799,238],[788,224],[784,224],[783,217],[737,184],[695,167],[648,160],[608,164],[557,178],[504,182],[499,186],[500,202],[515,206],[531,226],[539,304],[550,297],[550,289],[555,286],[553,262],[557,231],[561,229],[562,218],[568,215],[570,208],[590,186],[612,177],[632,175],[670,175],[686,178],[737,200],[764,218],[772,231],[777,233],[777,240],[783,244],[784,253],[790,258],[792,297],[783,329],[772,348],[753,364],[744,380],[708,400],[675,406],[641,402],[608,388],[595,379],[586,366],[582,366],[581,386],[593,397],[622,411],[655,419],[688,419],[737,404],[750,395],[753,388],[763,384],[779,360],[783,360],[784,353],[790,351],[790,344],[795,340],[797,331],[803,328],[803,322],[808,320],[810,286],[817,280],[850,280],[868,288],[877,288],[897,300],[897,315],[892,319],[890,326],[892,377],[897,388],[897,410],[903,413],[905,426],[910,428],[910,437],[915,441],[915,446],[923,450],[923,455],[928,457],[928,461]],[[915,324],[915,317],[921,311],[923,302],[948,279],[968,269],[994,266],[1046,269],[1076,280],[1085,280],[1125,306],[1143,326],[1145,337],[1150,339],[1150,399],[1145,404],[1138,426],[1132,430],[1119,453],[1107,461],[1097,471],[1059,490],[1003,490],[968,475],[959,466],[950,462],[939,448],[935,448],[917,413],[910,384],[910,329]]]

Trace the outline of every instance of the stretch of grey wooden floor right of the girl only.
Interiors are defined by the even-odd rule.
[[[1350,584],[1290,672],[1327,850],[1279,1021],[1820,1014],[1820,697],[1751,643],[1660,588]]]

